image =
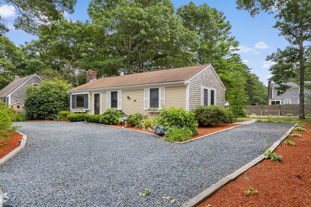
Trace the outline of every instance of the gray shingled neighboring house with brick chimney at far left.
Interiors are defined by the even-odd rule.
[[[13,105],[13,108],[22,109],[26,86],[39,84],[43,80],[48,81],[37,74],[23,78],[15,76],[14,80],[0,91],[0,101],[5,103],[6,106]]]

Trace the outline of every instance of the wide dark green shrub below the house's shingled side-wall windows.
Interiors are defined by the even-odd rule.
[[[197,106],[193,113],[200,126],[214,126],[233,121],[233,114],[220,106]]]

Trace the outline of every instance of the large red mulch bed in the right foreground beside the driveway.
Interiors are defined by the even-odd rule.
[[[199,207],[228,206],[311,206],[311,123],[306,132],[295,131],[302,137],[291,137],[296,146],[279,146],[279,163],[264,160],[248,169],[239,178],[224,186]],[[244,190],[253,185],[258,195]]]

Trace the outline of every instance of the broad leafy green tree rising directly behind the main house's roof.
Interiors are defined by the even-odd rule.
[[[109,70],[132,74],[193,65],[189,48],[197,35],[183,27],[169,0],[92,0],[88,13]]]

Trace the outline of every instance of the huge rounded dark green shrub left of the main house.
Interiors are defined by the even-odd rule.
[[[64,81],[43,81],[26,87],[24,110],[28,119],[56,119],[58,112],[69,109],[71,87]]]

